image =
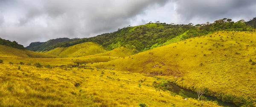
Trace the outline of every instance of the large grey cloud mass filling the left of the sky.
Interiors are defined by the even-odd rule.
[[[0,0],[0,37],[28,45],[60,37],[90,37],[128,26],[168,0]]]

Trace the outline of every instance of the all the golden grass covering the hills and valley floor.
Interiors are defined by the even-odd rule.
[[[193,91],[207,88],[211,96],[222,100],[225,99],[219,95],[243,96],[255,105],[255,44],[255,32],[223,31],[135,55],[125,47],[106,51],[93,43],[50,50],[51,55],[0,45],[3,60],[0,106],[139,107],[140,103],[148,107],[201,106],[197,99],[184,100],[169,91],[156,91],[152,83],[159,80],[154,77]],[[88,51],[79,50],[80,46]],[[65,54],[61,55],[62,52]],[[86,65],[70,66],[77,61]],[[43,67],[36,68],[35,63]],[[139,82],[145,78],[145,82]],[[79,85],[75,86],[76,83]],[[211,101],[204,104],[204,107],[216,106]]]

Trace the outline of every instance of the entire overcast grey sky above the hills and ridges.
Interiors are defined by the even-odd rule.
[[[150,21],[202,24],[224,17],[249,21],[256,0],[0,0],[0,38],[85,38]]]

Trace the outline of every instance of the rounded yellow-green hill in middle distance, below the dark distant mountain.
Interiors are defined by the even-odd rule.
[[[43,53],[56,55],[60,57],[79,57],[79,56],[94,55],[94,54],[99,54],[104,52],[107,52],[107,51],[103,47],[101,47],[99,44],[86,42],[86,43],[77,44],[67,48],[55,48],[50,51],[45,51]]]

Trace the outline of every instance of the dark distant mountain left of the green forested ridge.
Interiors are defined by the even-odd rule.
[[[32,51],[44,51],[46,48],[52,47],[55,44],[62,43],[62,42],[69,42],[72,41],[70,38],[56,38],[56,39],[51,39],[47,42],[32,42],[29,44],[26,49],[32,50]],[[55,48],[55,47],[53,47]]]

